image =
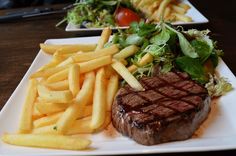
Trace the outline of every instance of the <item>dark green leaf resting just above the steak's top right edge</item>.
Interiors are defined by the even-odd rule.
[[[207,82],[203,66],[198,59],[187,56],[177,57],[175,63],[181,70],[188,73],[193,80],[196,80],[200,83]]]

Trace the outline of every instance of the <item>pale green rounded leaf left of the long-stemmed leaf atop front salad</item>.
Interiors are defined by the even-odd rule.
[[[170,39],[170,34],[168,33],[168,31],[163,29],[161,33],[152,37],[150,39],[150,42],[157,45],[163,45],[166,44],[169,41],[169,39]]]

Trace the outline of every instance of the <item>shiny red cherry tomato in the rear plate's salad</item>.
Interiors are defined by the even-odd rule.
[[[129,26],[132,22],[139,22],[140,17],[138,14],[127,8],[118,8],[115,14],[116,23],[119,26]]]

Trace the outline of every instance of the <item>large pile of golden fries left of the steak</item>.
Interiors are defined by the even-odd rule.
[[[4,134],[2,140],[19,146],[88,148],[91,141],[76,134],[97,133],[109,125],[120,76],[144,90],[124,65],[139,48],[105,48],[110,35],[105,28],[97,45],[40,44],[52,59],[30,76],[18,133]]]

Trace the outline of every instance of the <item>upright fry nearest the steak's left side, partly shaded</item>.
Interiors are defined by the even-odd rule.
[[[114,100],[115,94],[118,90],[119,85],[119,77],[118,75],[112,75],[108,81],[107,85],[107,95],[106,95],[106,100],[107,100],[107,111],[111,111],[111,105]]]

